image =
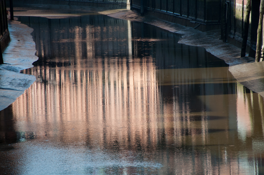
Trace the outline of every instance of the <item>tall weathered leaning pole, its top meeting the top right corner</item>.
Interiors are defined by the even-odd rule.
[[[260,0],[255,62],[260,61],[260,43],[261,43],[261,33],[262,33],[261,29],[262,29],[262,23],[263,23],[263,13],[264,13],[264,0]]]

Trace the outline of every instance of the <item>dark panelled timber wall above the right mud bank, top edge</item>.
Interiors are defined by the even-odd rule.
[[[141,0],[132,8],[141,9]],[[201,31],[220,28],[221,0],[144,0],[144,14]]]

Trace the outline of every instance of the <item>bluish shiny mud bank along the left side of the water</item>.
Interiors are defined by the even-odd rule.
[[[32,28],[18,21],[9,21],[11,41],[3,52],[4,64],[0,65],[0,111],[13,103],[35,81],[35,76],[20,73],[33,67],[35,42]]]

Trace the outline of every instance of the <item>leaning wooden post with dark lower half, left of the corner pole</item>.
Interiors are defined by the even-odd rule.
[[[251,11],[251,0],[247,0],[246,6],[246,19],[244,23],[243,39],[242,39],[242,48],[241,48],[241,57],[246,56],[246,47],[248,40],[248,29],[249,29],[249,16]]]

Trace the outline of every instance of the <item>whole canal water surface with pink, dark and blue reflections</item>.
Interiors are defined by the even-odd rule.
[[[264,174],[264,100],[180,35],[93,13],[33,28],[35,83],[0,111],[2,174]]]

